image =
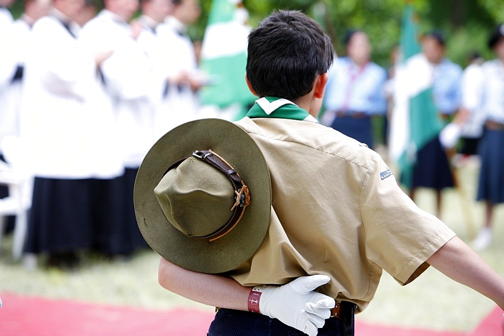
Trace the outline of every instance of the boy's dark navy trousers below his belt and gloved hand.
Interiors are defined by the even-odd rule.
[[[342,319],[330,317],[324,327],[319,328],[318,336],[347,336],[354,334],[353,310]],[[294,336],[305,335],[293,327],[283,324],[276,318],[241,310],[221,308],[210,324],[209,336]]]

